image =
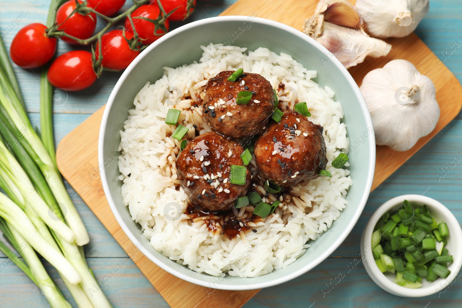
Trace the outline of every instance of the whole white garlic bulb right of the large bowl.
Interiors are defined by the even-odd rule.
[[[407,151],[436,127],[435,86],[406,60],[368,72],[359,88],[371,113],[376,144]]]

